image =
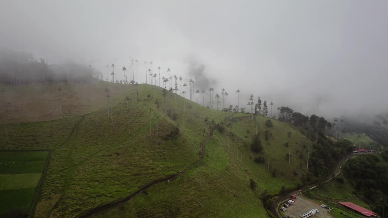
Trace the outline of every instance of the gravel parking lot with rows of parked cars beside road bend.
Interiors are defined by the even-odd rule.
[[[297,196],[295,203],[289,206],[288,208],[286,208],[286,211],[284,211],[284,214],[291,216],[293,218],[300,218],[300,215],[302,215],[303,213],[306,213],[311,209],[318,209],[319,213],[316,213],[310,218],[332,218],[333,216],[330,215],[329,210],[322,208],[321,206],[319,206],[320,204],[321,203],[315,202],[311,199]]]

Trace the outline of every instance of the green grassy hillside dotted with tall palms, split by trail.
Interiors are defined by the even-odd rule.
[[[165,100],[162,89],[152,85],[123,87],[126,93],[111,93],[108,105],[89,114],[3,126],[0,149],[54,150],[35,217],[75,217],[183,170],[198,159],[213,119],[225,129],[214,130],[199,168],[196,164],[174,181],[154,185],[96,216],[268,217],[258,196],[264,190],[279,194],[284,185],[291,189],[302,183],[298,166],[300,178],[305,177],[312,142],[287,123],[278,126],[274,120],[274,126],[267,128],[268,118],[257,116],[264,150],[255,154],[250,143],[256,122],[248,121],[247,114],[206,109],[171,92]],[[99,102],[107,102],[104,88],[98,88]],[[265,130],[272,133],[269,145]],[[286,142],[291,146],[291,163],[286,159]],[[255,157],[264,157],[265,162],[255,163]],[[251,178],[258,181],[254,191]]]

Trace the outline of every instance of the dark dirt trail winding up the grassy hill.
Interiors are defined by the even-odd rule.
[[[184,173],[186,170],[190,169],[194,164],[200,162],[203,159],[203,157],[204,157],[204,154],[205,154],[205,151],[206,151],[206,142],[208,142],[208,139],[213,136],[213,129],[210,126],[209,126],[209,129],[210,129],[210,134],[202,142],[202,155],[201,155],[201,157],[199,157],[199,159],[197,161],[195,161],[194,163],[192,163],[189,166],[187,166],[184,170],[180,171],[179,173],[175,173],[173,175],[167,176],[165,178],[159,178],[157,180],[153,180],[152,182],[147,183],[146,185],[143,185],[140,189],[138,189],[135,192],[133,192],[130,196],[128,196],[128,197],[126,197],[124,199],[121,199],[120,201],[115,201],[115,202],[111,202],[111,203],[108,203],[108,204],[104,204],[102,206],[98,206],[97,208],[91,209],[91,210],[89,210],[89,211],[87,211],[87,212],[85,212],[85,213],[83,213],[83,214],[81,214],[79,216],[76,216],[76,218],[86,218],[86,217],[89,217],[89,216],[94,215],[96,213],[99,213],[99,212],[101,212],[101,211],[103,211],[105,209],[108,209],[108,208],[117,206],[119,204],[122,204],[122,203],[132,199],[133,197],[137,196],[138,194],[144,192],[146,189],[148,189],[152,185],[156,185],[159,182],[173,180],[174,178],[176,178],[181,173]]]

